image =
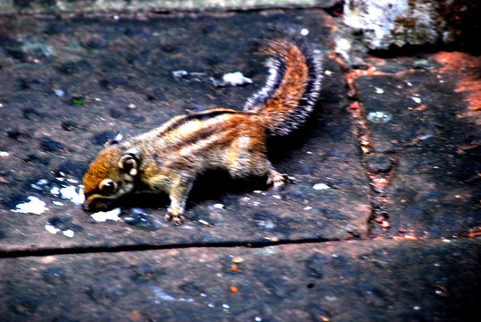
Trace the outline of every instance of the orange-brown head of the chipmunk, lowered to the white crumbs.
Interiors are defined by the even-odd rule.
[[[112,208],[115,201],[135,188],[139,175],[139,151],[118,141],[109,141],[83,177],[88,211]]]

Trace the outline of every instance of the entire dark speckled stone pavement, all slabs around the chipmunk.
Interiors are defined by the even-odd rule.
[[[433,55],[345,69],[336,19],[0,21],[0,320],[475,321],[481,245],[463,238],[481,226],[477,110]],[[105,222],[74,202],[119,132],[240,109],[266,78],[257,39],[287,29],[325,52],[316,112],[269,144],[295,182],[276,192],[207,174],[181,227],[165,223],[165,196],[131,199]],[[227,72],[253,83],[216,88]],[[36,200],[38,214],[20,211]]]

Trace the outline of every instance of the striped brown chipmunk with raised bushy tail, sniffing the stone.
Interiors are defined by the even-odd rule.
[[[173,117],[130,140],[110,140],[83,178],[88,211],[111,208],[133,192],[166,192],[165,215],[181,225],[198,174],[225,169],[233,178],[266,176],[274,189],[287,180],[266,157],[266,138],[289,134],[313,109],[320,88],[320,59],[299,40],[274,38],[261,50],[266,85],[243,111],[225,108]]]

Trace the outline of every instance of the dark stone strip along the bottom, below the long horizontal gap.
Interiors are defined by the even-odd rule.
[[[4,258],[0,321],[476,321],[480,242]]]

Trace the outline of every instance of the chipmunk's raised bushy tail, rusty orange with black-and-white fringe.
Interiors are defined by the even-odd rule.
[[[264,114],[270,135],[286,135],[306,121],[316,103],[322,77],[320,54],[285,38],[268,41],[262,52],[270,55],[269,76],[244,110]]]

